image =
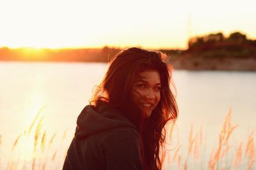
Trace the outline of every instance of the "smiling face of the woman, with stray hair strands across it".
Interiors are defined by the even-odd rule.
[[[131,97],[134,103],[148,118],[160,101],[161,81],[158,71],[150,70],[139,73],[132,83]]]

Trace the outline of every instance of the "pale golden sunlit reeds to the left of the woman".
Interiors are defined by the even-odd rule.
[[[57,164],[58,159],[56,158],[59,157],[59,151],[63,150],[61,143],[67,137],[67,131],[62,134],[61,139],[57,138],[58,134],[45,131],[44,115],[41,112],[42,110],[38,111],[28,129],[19,134],[13,142],[8,169],[58,169],[52,165]],[[2,138],[0,136],[1,145]],[[56,145],[60,147],[56,147]],[[65,159],[62,155],[60,157]]]

